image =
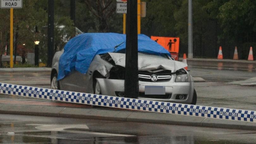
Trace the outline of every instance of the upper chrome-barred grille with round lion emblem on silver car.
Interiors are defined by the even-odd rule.
[[[157,81],[167,81],[172,78],[170,70],[155,70],[157,72],[139,71],[139,81],[150,81],[152,75],[156,75]],[[155,81],[156,82],[156,81]]]

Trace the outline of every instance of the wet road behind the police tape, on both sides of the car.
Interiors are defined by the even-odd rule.
[[[222,63],[221,67],[218,66],[220,65],[219,63]],[[197,105],[256,111],[255,86],[237,86],[226,84],[227,82],[231,81],[245,80],[251,77],[256,77],[256,64],[188,61],[188,69],[190,70],[190,74],[192,76],[202,77],[206,80],[206,82],[195,83],[195,89],[198,95]],[[50,88],[50,72],[0,73],[0,81],[12,84],[18,82],[19,84],[21,83],[21,85]],[[33,99],[10,95],[0,96],[2,102],[5,100],[5,103],[8,103],[9,101],[7,100],[10,98],[12,100]],[[40,100],[41,102],[47,101],[42,99],[36,100]]]

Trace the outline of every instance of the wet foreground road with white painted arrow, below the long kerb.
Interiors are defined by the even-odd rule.
[[[255,142],[249,130],[0,114],[0,143]]]

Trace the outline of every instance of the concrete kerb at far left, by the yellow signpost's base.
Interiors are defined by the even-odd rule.
[[[17,73],[17,72],[51,72],[52,68],[0,68],[0,73]]]

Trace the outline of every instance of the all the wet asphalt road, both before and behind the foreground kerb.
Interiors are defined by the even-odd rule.
[[[226,84],[230,81],[256,77],[255,64],[242,63],[236,66],[233,63],[223,62],[222,64],[207,62],[207,65],[204,62],[188,62],[188,66],[192,76],[202,77],[206,80],[206,82],[195,83],[198,105],[256,111],[255,86]],[[34,87],[49,88],[50,73],[1,73],[0,81],[9,81],[9,83],[19,81],[24,85],[34,82],[32,85]],[[47,82],[49,84],[45,84]],[[22,100],[22,103],[28,105],[38,103],[51,105],[49,100],[0,94],[0,102],[9,103],[8,100],[14,101],[12,104]],[[59,102],[58,106],[62,104]],[[63,126],[68,124],[74,125],[63,130]],[[55,130],[46,130],[42,127],[55,128]],[[15,132],[15,135],[7,134],[8,132]],[[256,132],[0,114],[0,143],[256,143]]]

